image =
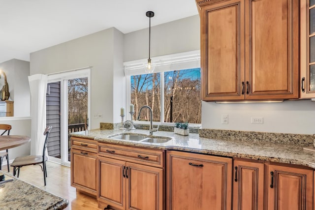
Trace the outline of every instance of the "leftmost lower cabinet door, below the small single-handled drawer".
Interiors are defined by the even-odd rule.
[[[71,149],[71,186],[96,195],[96,159],[93,152]]]

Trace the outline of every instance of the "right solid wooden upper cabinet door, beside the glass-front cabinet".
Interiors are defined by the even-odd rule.
[[[298,98],[299,1],[247,2],[246,98]]]

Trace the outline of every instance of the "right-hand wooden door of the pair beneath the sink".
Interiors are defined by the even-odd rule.
[[[163,210],[163,169],[127,163],[128,210]]]

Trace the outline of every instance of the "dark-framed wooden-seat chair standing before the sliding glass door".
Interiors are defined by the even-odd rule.
[[[19,175],[20,175],[20,168],[22,168],[23,166],[42,164],[43,167],[41,167],[41,165],[39,165],[39,166],[41,167],[41,170],[44,173],[44,183],[45,183],[45,186],[46,186],[46,177],[47,177],[46,160],[48,160],[48,158],[45,155],[45,151],[46,151],[46,148],[47,148],[48,136],[49,136],[49,133],[50,133],[51,129],[52,129],[52,126],[47,126],[45,131],[44,131],[44,135],[46,137],[45,137],[45,142],[44,142],[44,148],[43,148],[43,154],[42,155],[16,157],[14,159],[13,163],[11,164],[11,166],[13,166],[13,176],[15,176],[16,175],[16,171],[18,171],[18,177],[19,177]]]

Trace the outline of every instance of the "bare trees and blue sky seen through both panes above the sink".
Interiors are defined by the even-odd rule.
[[[138,116],[143,105],[147,105],[152,108],[153,121],[160,121],[163,101],[165,122],[201,123],[200,68],[168,71],[163,75],[164,98],[160,95],[160,73],[130,77],[130,102],[135,110],[133,118]],[[140,120],[150,120],[148,110],[141,112]]]

